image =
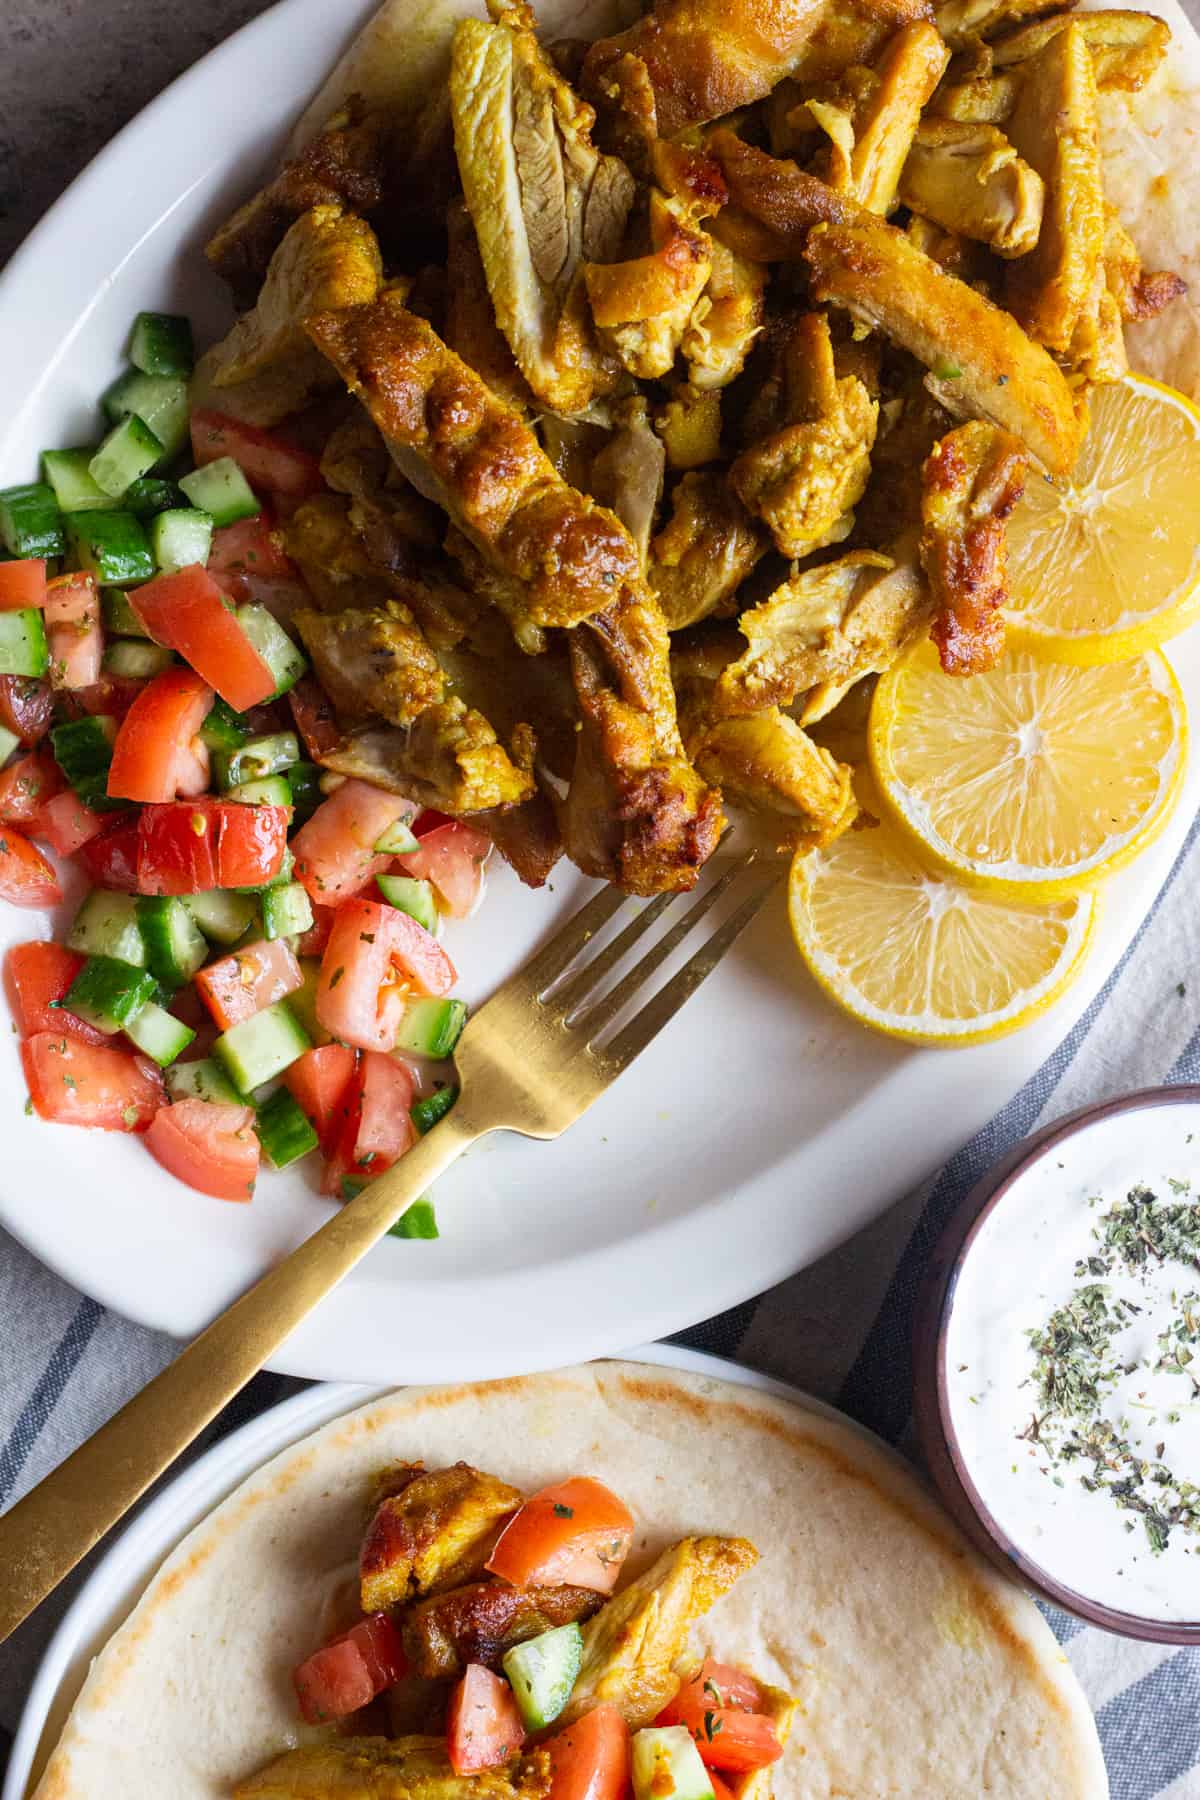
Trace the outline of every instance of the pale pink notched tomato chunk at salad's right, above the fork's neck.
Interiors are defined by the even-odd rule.
[[[374,900],[347,900],[335,920],[317,983],[317,1019],[358,1049],[394,1049],[410,994],[441,995],[455,967],[423,925]]]

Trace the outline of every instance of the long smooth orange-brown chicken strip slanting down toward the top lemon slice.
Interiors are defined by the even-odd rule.
[[[1070,472],[1083,439],[1070,389],[1006,311],[869,214],[855,225],[813,227],[804,261],[813,299],[844,308],[923,362],[943,407],[1013,432],[1051,473]]]

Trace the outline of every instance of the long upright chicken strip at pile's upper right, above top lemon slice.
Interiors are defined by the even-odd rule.
[[[1105,241],[1096,76],[1078,25],[1022,65],[1007,137],[1045,182],[1045,207],[1036,247],[1006,270],[1004,304],[1038,344],[1069,351]]]

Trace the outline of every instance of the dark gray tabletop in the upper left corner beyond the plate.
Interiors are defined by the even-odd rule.
[[[0,0],[0,265],[122,124],[268,4]]]

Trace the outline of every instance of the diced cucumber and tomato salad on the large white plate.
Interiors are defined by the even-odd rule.
[[[317,767],[336,733],[273,527],[320,472],[189,410],[191,365],[189,322],[142,313],[103,441],[0,490],[0,896],[59,905],[52,857],[88,884],[5,988],[43,1120],[137,1132],[223,1201],[318,1152],[345,1199],[453,1103],[441,918],[491,846]],[[396,1229],[435,1237],[428,1202]]]

